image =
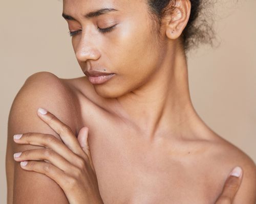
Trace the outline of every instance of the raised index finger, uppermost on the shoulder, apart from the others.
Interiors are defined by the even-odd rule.
[[[60,121],[55,115],[45,109],[39,108],[38,116],[46,122],[61,138],[61,140],[77,155],[82,156],[82,149],[76,136],[68,125]]]

